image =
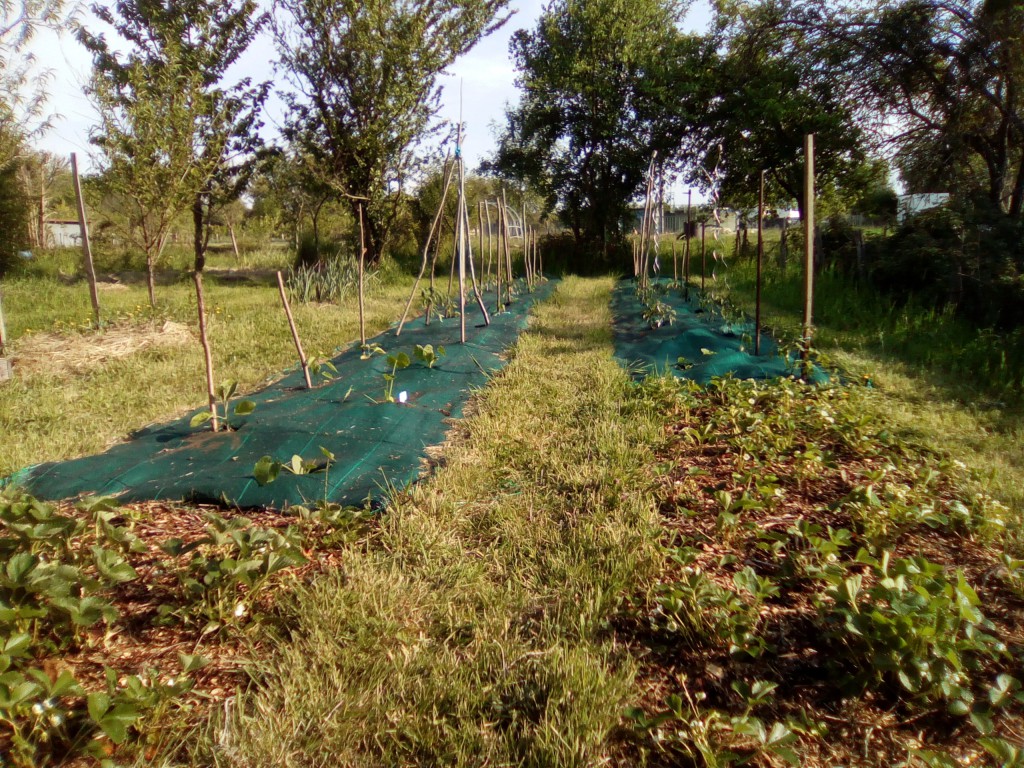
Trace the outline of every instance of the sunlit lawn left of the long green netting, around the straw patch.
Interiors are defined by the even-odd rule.
[[[15,356],[19,348],[31,345],[36,333],[54,332],[71,339],[95,335],[88,330],[91,309],[84,281],[54,276],[74,266],[69,259],[67,253],[57,253],[52,261],[3,281],[4,314]],[[241,391],[296,365],[291,333],[271,281],[272,275],[264,273],[251,280],[220,276],[215,269],[205,281],[216,379],[234,380]],[[160,328],[173,321],[187,326],[198,339],[190,281],[173,273],[164,282],[168,284],[157,288],[156,309],[148,307],[141,276],[104,284],[103,317],[119,332]],[[368,333],[379,333],[397,318],[410,288],[411,280],[394,272],[374,284],[367,297]],[[295,305],[293,310],[309,356],[328,356],[358,338],[353,296],[338,305]],[[205,400],[198,340],[85,362],[80,373],[19,372],[0,385],[0,476],[31,464],[100,451],[132,430]]]

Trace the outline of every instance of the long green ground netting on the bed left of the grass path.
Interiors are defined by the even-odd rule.
[[[390,366],[383,355],[360,359],[358,345],[332,361],[337,377],[307,390],[295,371],[254,394],[249,416],[233,417],[237,428],[212,432],[209,424],[189,427],[188,416],[146,427],[98,456],[41,464],[22,470],[8,483],[43,499],[81,495],[113,496],[130,501],[182,500],[282,508],[326,499],[361,505],[380,498],[389,485],[404,486],[421,474],[426,449],[444,440],[449,420],[461,415],[470,390],[486,383],[505,364],[502,352],[525,327],[527,309],[553,291],[546,283],[534,293],[519,286],[520,296],[507,311],[492,315],[489,326],[475,302],[466,305],[466,344],[459,343],[459,321],[422,317],[370,340],[389,354],[406,352],[412,365],[395,376],[394,395],[406,403],[382,399],[383,375]],[[494,305],[494,297],[490,297]],[[444,346],[447,354],[432,369],[413,355],[416,344]],[[282,472],[260,485],[253,476],[263,456],[289,463],[293,455],[321,460],[321,447],[335,455],[327,473]]]

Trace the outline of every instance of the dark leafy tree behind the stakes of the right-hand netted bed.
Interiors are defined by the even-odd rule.
[[[815,134],[817,184],[856,199],[866,161],[856,109],[835,87],[835,48],[785,25],[785,3],[718,3],[707,108],[691,134],[700,160],[692,180],[718,168],[724,199],[756,205],[761,171],[773,200],[804,210],[804,136]]]

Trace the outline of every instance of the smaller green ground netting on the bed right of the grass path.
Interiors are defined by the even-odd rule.
[[[727,321],[709,302],[700,305],[698,292],[690,298],[667,281],[651,281],[652,299],[676,310],[673,324],[651,328],[643,317],[644,302],[636,283],[620,281],[612,292],[611,312],[615,357],[637,376],[671,372],[707,384],[714,378],[773,379],[800,374],[800,362],[779,352],[778,344],[761,334],[761,354],[754,354],[754,324]],[[682,358],[682,361],[680,361]],[[812,381],[828,377],[815,369]]]

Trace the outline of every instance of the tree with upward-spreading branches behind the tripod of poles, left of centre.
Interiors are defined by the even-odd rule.
[[[501,27],[509,0],[280,0],[281,57],[298,92],[286,136],[353,218],[368,260],[388,247],[431,132],[437,77]]]

